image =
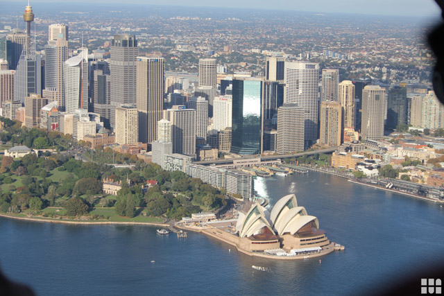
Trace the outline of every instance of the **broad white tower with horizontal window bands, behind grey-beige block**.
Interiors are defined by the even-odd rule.
[[[304,143],[310,147],[318,139],[319,64],[285,62],[284,103],[296,103],[304,108]]]

